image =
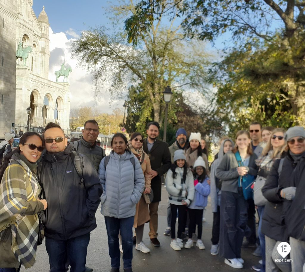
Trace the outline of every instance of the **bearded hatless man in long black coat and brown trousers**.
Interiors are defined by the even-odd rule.
[[[153,200],[149,204],[149,237],[152,245],[160,246],[158,241],[158,205],[161,201],[161,177],[170,168],[170,151],[168,144],[157,139],[160,125],[158,122],[151,122],[147,125],[147,138],[143,142],[143,149],[148,154],[152,168],[151,188]]]

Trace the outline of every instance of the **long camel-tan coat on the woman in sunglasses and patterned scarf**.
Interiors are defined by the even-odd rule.
[[[151,177],[150,177],[149,173],[152,171],[152,169],[150,167],[149,157],[146,153],[145,153],[145,156],[144,156],[144,161],[141,164],[141,167],[142,167],[142,170],[143,170],[143,174],[145,176],[145,188],[151,189],[151,187],[150,187]],[[144,200],[144,197],[143,197],[143,194],[140,198],[140,201],[135,206],[135,220],[134,220],[134,227],[135,228],[145,224],[146,222],[148,222],[150,220],[148,204],[146,204],[146,202]]]

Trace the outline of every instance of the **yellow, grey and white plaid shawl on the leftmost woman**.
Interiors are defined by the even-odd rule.
[[[35,263],[39,221],[37,214],[23,214],[33,206],[39,192],[40,186],[30,168],[13,156],[0,186],[0,231],[11,228],[12,251],[25,268]]]

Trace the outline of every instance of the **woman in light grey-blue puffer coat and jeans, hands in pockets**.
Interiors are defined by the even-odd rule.
[[[105,216],[111,272],[120,271],[119,233],[122,236],[124,271],[132,272],[132,226],[135,205],[144,190],[144,175],[138,159],[128,149],[122,133],[111,140],[113,151],[102,159],[99,178],[103,187],[101,213]]]

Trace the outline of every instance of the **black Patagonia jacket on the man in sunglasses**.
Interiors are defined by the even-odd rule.
[[[39,163],[39,173],[48,208],[45,211],[45,236],[67,240],[96,228],[95,212],[102,186],[88,158],[83,156],[83,178],[74,167],[72,145],[59,153],[46,153]]]

